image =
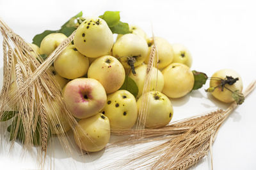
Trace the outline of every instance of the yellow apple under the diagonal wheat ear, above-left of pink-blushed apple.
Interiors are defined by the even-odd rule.
[[[63,78],[75,79],[87,73],[89,59],[69,45],[54,61],[54,68]]]

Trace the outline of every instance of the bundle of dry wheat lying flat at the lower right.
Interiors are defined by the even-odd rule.
[[[253,81],[244,91],[244,96],[248,96],[255,87],[256,81]],[[212,142],[216,139],[220,126],[236,107],[237,104],[232,103],[227,110],[217,110],[198,117],[186,118],[159,129],[141,130],[144,133],[144,139],[132,138],[136,134],[134,130],[125,130],[123,133],[122,131],[112,131],[118,136],[124,134],[131,138],[113,143],[109,149],[115,146],[131,146],[148,141],[167,140],[164,144],[144,147],[143,150],[128,155],[131,159],[122,163],[115,162],[113,166],[118,169],[125,166],[129,166],[131,169],[137,167],[142,169],[188,169],[211,150]],[[177,127],[180,128],[179,132],[177,132],[178,129],[175,129]],[[165,135],[164,138],[152,138],[152,136],[163,135]],[[136,156],[134,157],[134,155]],[[112,168],[112,166],[108,167]]]

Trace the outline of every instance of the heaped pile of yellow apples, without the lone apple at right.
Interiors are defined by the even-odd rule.
[[[102,150],[109,141],[110,129],[131,129],[136,124],[144,102],[141,94],[145,91],[146,64],[153,43],[158,57],[144,94],[148,99],[146,127],[167,125],[173,116],[170,98],[186,96],[193,89],[194,76],[189,69],[192,59],[186,47],[170,45],[164,38],[148,38],[136,26],[130,26],[130,30],[130,34],[119,34],[114,43],[113,33],[104,20],[85,18],[77,28],[74,43],[50,68],[63,89],[68,110],[79,119],[81,128],[77,127],[74,138],[86,152]],[[64,34],[52,33],[45,36],[40,48],[33,48],[49,55],[66,38]],[[125,75],[135,81],[138,96],[119,90]],[[61,124],[68,131],[67,120],[62,119]]]

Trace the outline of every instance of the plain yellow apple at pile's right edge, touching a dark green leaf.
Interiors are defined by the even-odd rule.
[[[188,66],[172,63],[162,71],[164,76],[163,94],[171,98],[186,96],[194,86],[194,75]]]

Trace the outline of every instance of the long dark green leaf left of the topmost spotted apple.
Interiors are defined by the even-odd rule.
[[[41,34],[37,34],[34,38],[33,38],[33,44],[37,45],[40,47],[41,45],[41,41],[45,38],[45,36],[51,34],[51,33],[63,33],[66,36],[70,36],[72,34],[72,32],[74,32],[77,29],[77,25],[76,25],[76,20],[79,17],[82,17],[83,12],[79,12],[77,15],[75,15],[74,17],[70,18],[67,22],[65,22],[65,24],[63,24],[61,26],[60,30],[56,30],[56,31],[51,31],[51,30],[47,30],[42,32]]]

